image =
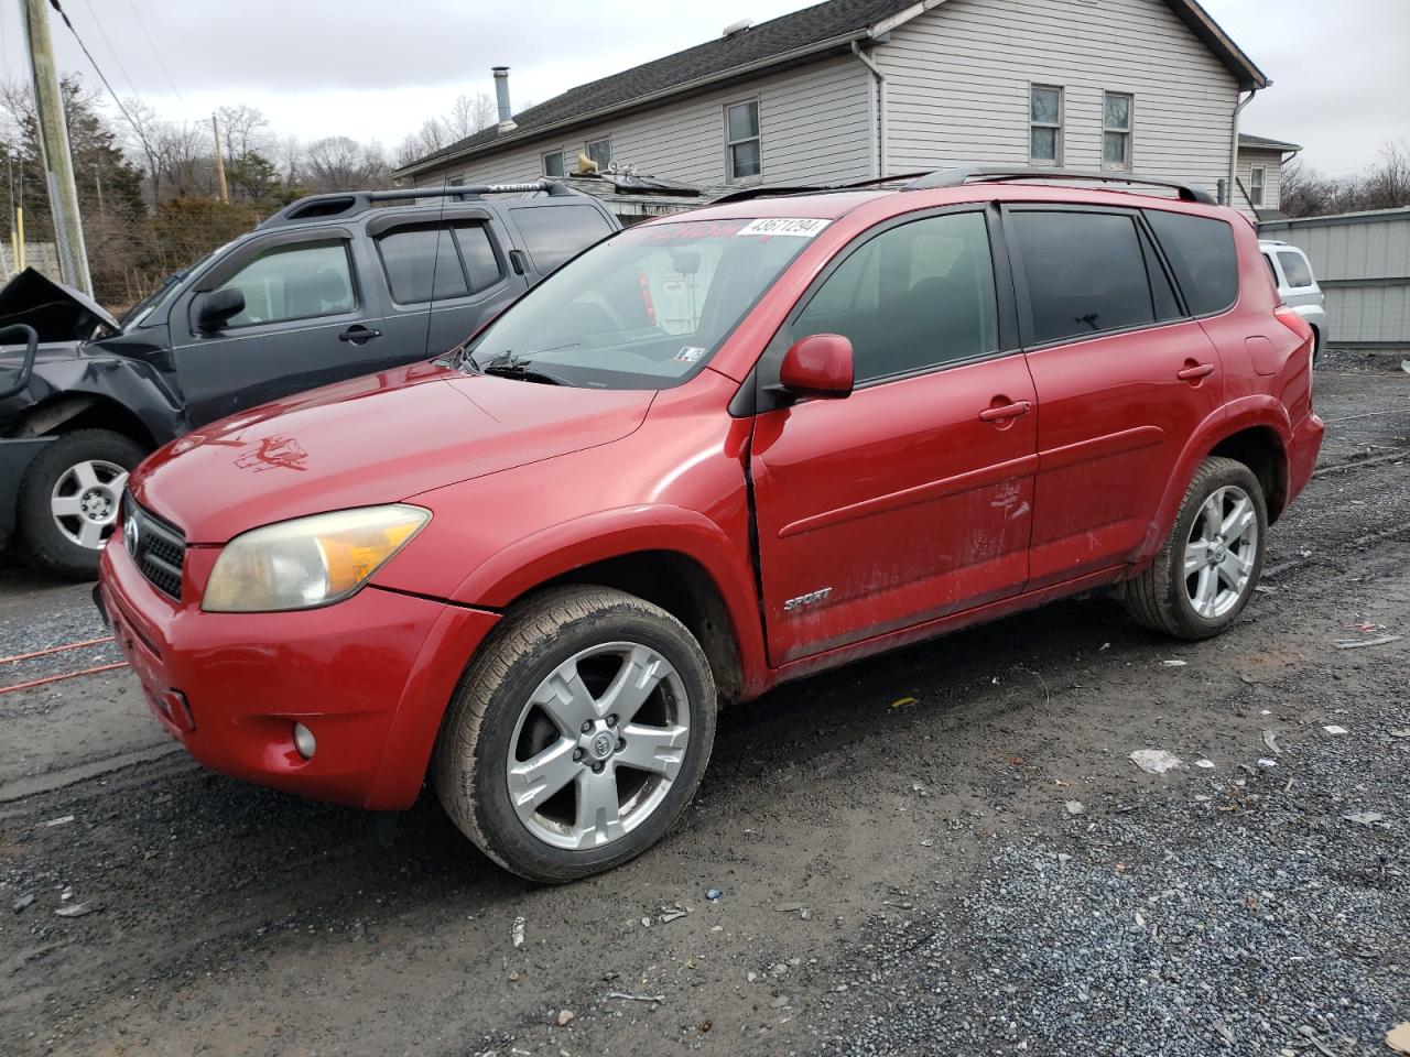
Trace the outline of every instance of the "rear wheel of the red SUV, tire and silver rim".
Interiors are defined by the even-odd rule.
[[[1204,459],[1160,552],[1127,585],[1127,612],[1176,638],[1225,631],[1253,595],[1266,540],[1268,503],[1253,472],[1235,459]]]

